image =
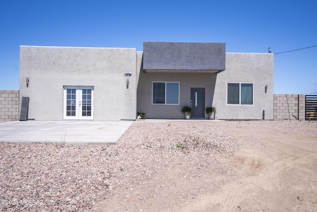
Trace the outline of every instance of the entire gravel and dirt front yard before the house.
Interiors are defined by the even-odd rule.
[[[115,145],[0,146],[0,211],[317,211],[315,121],[136,121]]]

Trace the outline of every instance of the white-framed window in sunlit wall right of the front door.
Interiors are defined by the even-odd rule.
[[[253,105],[253,83],[228,83],[228,105]]]

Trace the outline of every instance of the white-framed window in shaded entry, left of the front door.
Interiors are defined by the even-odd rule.
[[[152,104],[178,105],[179,82],[153,82]]]

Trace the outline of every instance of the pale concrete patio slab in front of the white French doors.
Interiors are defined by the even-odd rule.
[[[0,123],[0,142],[114,144],[134,121],[12,121]]]

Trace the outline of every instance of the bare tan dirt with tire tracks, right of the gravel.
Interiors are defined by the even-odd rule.
[[[316,136],[234,132],[242,148],[224,161],[236,180],[178,212],[316,211]]]

